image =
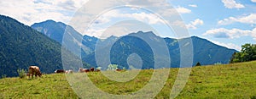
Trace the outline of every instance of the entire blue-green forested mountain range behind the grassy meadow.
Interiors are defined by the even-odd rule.
[[[73,41],[76,47],[81,45],[81,49],[62,47],[61,50],[61,44],[65,43],[62,41],[64,33],[72,37],[67,41]],[[192,40],[191,43],[188,40]],[[112,63],[118,64],[120,69],[157,69],[154,64],[166,65],[168,58],[171,59],[170,68],[180,67],[183,47],[193,46],[193,66],[198,62],[202,65],[229,63],[232,54],[237,52],[197,36],[174,39],[156,36],[152,31],[137,31],[126,36],[100,39],[82,36],[72,26],[54,20],[27,26],[4,15],[0,15],[0,42],[0,75],[7,76],[17,76],[17,69],[27,69],[30,65],[38,65],[46,74],[63,69],[63,64],[73,65],[63,62],[61,57],[72,59],[74,63],[79,62],[80,57],[83,68],[104,69],[105,65]],[[81,53],[73,53],[79,50]],[[67,54],[61,56],[61,51]]]

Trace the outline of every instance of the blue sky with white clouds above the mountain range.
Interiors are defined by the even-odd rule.
[[[2,0],[0,1],[0,14],[17,19],[25,25],[32,25],[47,19],[72,25],[69,23],[72,23],[77,12],[86,6],[84,5],[86,3],[88,0]],[[182,21],[174,21],[171,24],[188,29],[189,36],[199,36],[237,51],[240,51],[241,45],[245,43],[255,44],[256,42],[256,0],[157,0],[157,2],[148,0],[143,3],[157,8],[163,7],[163,3],[172,5]],[[106,4],[99,2],[96,5],[104,6]],[[96,11],[97,9],[91,9],[86,13],[90,14]],[[169,13],[168,11],[156,12],[155,14],[143,8],[115,8],[100,14],[97,19],[91,20],[93,23],[86,30],[87,32],[76,28],[75,25],[72,26],[81,34],[88,36],[108,36],[101,33],[104,31],[113,33],[113,31],[119,30],[124,33],[113,33],[112,35],[122,36],[125,32],[132,30],[153,28],[154,32],[160,32],[160,36],[175,38],[175,34],[166,30],[165,19],[160,19],[157,16],[160,14],[166,18],[165,16],[172,16],[170,12],[172,11]],[[147,23],[147,26],[143,26],[143,23]]]

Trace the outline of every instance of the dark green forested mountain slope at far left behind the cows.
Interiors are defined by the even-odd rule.
[[[38,65],[43,73],[62,69],[60,43],[3,15],[0,15],[0,43],[0,75],[16,76],[17,69],[27,69],[30,65]]]

